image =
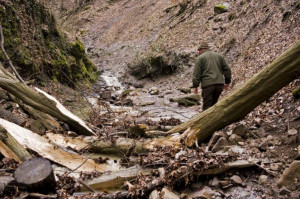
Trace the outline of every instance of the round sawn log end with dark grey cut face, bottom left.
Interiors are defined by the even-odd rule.
[[[16,181],[30,191],[49,193],[55,191],[55,178],[47,159],[33,158],[25,161],[15,171]]]

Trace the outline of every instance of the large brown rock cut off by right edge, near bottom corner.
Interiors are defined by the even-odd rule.
[[[297,182],[300,182],[300,161],[294,161],[289,168],[285,169],[277,184],[289,186]]]

